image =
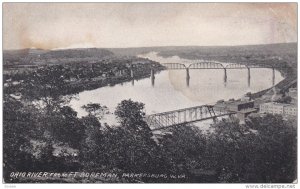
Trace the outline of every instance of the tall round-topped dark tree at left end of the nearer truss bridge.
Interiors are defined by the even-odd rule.
[[[118,104],[115,115],[119,119],[120,127],[110,131],[115,139],[111,145],[119,149],[114,151],[118,167],[127,171],[151,172],[159,165],[156,162],[158,146],[152,139],[152,133],[143,120],[144,104],[133,102],[131,99],[123,100]]]

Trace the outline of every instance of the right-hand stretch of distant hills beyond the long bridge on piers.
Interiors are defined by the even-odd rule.
[[[215,60],[241,64],[288,65],[297,71],[297,43],[243,46],[170,46],[109,49],[117,55],[139,55],[157,52],[159,56],[179,56],[191,60]]]

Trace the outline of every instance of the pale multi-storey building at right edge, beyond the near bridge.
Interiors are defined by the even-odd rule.
[[[260,105],[259,112],[287,116],[297,116],[297,106],[291,104],[268,102]]]

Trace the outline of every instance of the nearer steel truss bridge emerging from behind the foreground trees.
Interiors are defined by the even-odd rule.
[[[190,108],[184,108],[169,112],[147,115],[145,121],[152,131],[165,129],[186,123],[193,123],[207,119],[232,115],[236,112],[217,108],[212,105],[202,105]]]

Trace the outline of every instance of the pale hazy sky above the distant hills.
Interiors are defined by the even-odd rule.
[[[3,4],[4,49],[296,41],[296,3]]]

